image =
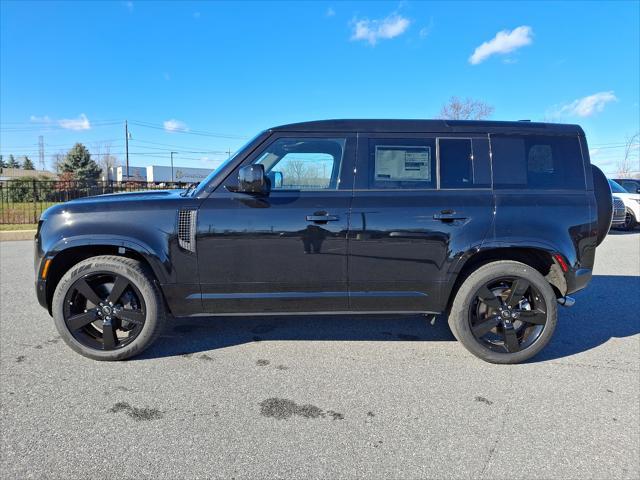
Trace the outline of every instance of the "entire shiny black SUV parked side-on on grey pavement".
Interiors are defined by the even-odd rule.
[[[471,353],[521,362],[589,283],[609,230],[588,152],[576,125],[275,127],[197,187],[51,207],[38,300],[97,360],[140,353],[169,314],[396,312],[445,313]]]

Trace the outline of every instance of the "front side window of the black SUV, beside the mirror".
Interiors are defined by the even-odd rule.
[[[264,165],[272,190],[336,190],[344,138],[280,138],[254,163]]]

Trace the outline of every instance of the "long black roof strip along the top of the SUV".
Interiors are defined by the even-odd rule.
[[[541,132],[573,133],[584,135],[579,125],[562,123],[539,123],[529,121],[502,122],[495,120],[393,120],[393,119],[344,119],[315,120],[290,123],[270,129],[287,132],[371,132],[371,133],[505,133]]]

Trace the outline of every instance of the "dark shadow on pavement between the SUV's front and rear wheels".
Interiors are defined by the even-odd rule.
[[[185,355],[268,341],[455,341],[446,318],[425,315],[296,315],[169,320],[164,334],[137,359]],[[134,359],[135,360],[135,359]]]

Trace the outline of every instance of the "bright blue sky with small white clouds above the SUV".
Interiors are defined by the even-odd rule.
[[[16,2],[0,15],[0,153],[109,144],[215,166],[259,130],[434,118],[579,123],[606,171],[640,128],[640,2]]]

